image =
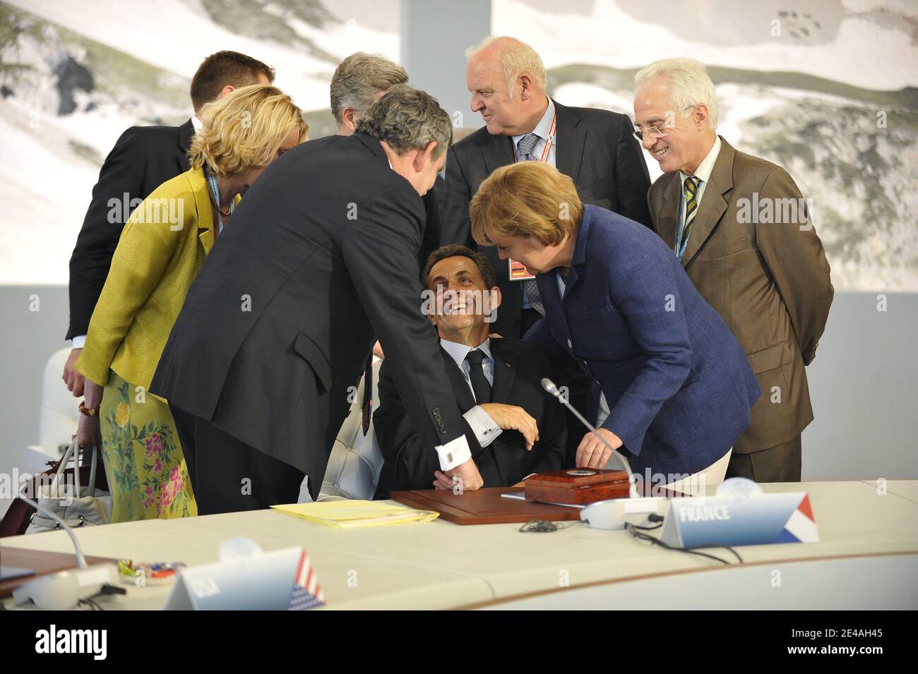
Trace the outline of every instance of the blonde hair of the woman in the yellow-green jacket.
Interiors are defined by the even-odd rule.
[[[188,150],[192,168],[205,163],[220,178],[267,166],[296,128],[301,143],[309,125],[293,99],[275,86],[252,84],[204,105],[198,116],[204,128]]]

